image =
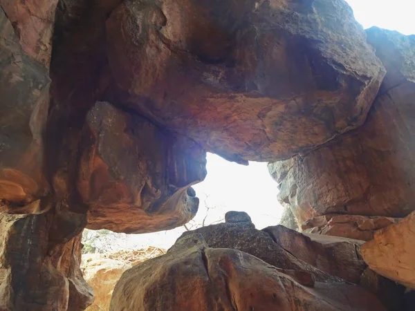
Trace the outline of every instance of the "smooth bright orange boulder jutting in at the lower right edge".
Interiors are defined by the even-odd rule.
[[[415,289],[415,212],[399,223],[376,232],[360,248],[369,267],[378,274]]]

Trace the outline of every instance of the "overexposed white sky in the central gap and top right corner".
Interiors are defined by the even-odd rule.
[[[347,0],[356,20],[363,28],[378,26],[398,30],[405,35],[415,34],[415,0]],[[246,211],[252,222],[261,229],[277,225],[282,207],[277,201],[277,183],[270,178],[266,163],[250,162],[248,167],[227,162],[208,153],[208,176],[194,186],[201,199],[199,212],[193,223],[201,223],[206,205],[211,209],[206,223],[221,220],[226,211]],[[208,198],[206,196],[208,195]],[[123,248],[146,245],[168,248],[182,234],[183,227],[154,234],[124,236]]]

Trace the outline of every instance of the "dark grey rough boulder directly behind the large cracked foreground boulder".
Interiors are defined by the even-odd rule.
[[[182,236],[194,233],[201,234],[209,247],[239,249],[274,267],[308,272],[316,281],[342,283],[340,278],[331,276],[286,251],[273,241],[268,232],[257,230],[253,225],[219,223],[185,232]]]

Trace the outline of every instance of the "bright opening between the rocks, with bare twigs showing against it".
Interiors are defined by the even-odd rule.
[[[187,230],[223,223],[227,211],[246,211],[257,229],[280,223],[283,207],[277,200],[277,182],[270,176],[266,162],[241,165],[214,153],[208,153],[206,158],[208,175],[203,182],[192,187],[199,198],[199,209],[190,222],[175,229],[148,234],[86,229],[84,253],[146,247],[168,249]]]

